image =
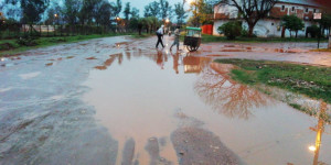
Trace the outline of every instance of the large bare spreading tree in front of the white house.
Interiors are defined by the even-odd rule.
[[[268,15],[278,0],[222,0],[222,2],[237,8],[239,15],[248,24],[248,36],[253,36],[256,23]]]

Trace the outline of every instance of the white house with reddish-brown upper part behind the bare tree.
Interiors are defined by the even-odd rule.
[[[314,3],[313,0],[279,0],[270,10],[267,18],[257,22],[254,28],[254,34],[260,37],[280,37],[284,33],[285,36],[289,36],[289,31],[285,31],[281,26],[281,18],[284,15],[295,14],[302,19],[305,23],[305,29],[299,31],[298,35],[305,36],[307,28],[317,24],[317,22],[313,21],[313,13],[321,12],[321,9],[322,7]],[[228,6],[224,2],[215,4],[213,34],[220,35],[217,32],[218,26],[231,20],[242,20],[243,26],[248,30],[245,21],[238,18],[238,10],[235,7]]]

